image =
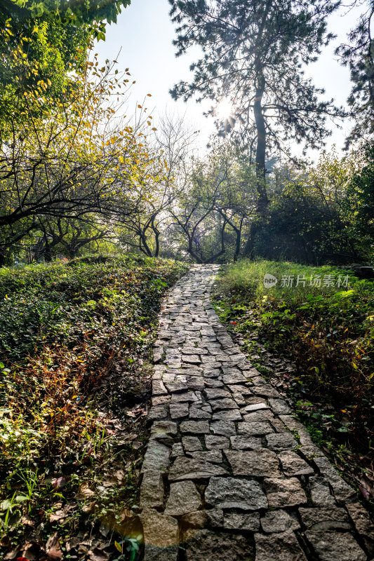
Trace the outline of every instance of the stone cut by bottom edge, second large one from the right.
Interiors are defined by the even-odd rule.
[[[293,532],[255,534],[255,561],[307,561]]]

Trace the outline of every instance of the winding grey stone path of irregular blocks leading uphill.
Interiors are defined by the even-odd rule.
[[[364,561],[374,528],[233,342],[209,295],[219,266],[168,292],[142,466],[145,561]]]

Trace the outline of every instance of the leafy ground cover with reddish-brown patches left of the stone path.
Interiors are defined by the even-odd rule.
[[[6,559],[137,558],[128,528],[147,440],[150,343],[163,292],[186,270],[136,255],[1,269]]]

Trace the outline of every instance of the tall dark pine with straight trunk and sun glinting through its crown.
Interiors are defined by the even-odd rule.
[[[178,25],[177,55],[194,45],[203,51],[192,65],[192,82],[178,83],[171,95],[187,100],[198,94],[198,101],[210,98],[216,105],[229,100],[247,144],[255,139],[257,209],[263,217],[269,203],[267,151],[271,147],[286,150],[284,141],[290,138],[307,147],[321,147],[330,134],[326,117],[344,114],[333,100],[319,101],[323,90],[306,79],[302,70],[302,64],[316,60],[330,41],[326,18],[339,2],[169,1],[172,20]]]

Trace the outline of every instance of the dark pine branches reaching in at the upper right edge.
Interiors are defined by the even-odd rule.
[[[352,6],[357,4],[363,4],[366,9],[349,33],[349,43],[336,50],[342,64],[349,68],[353,83],[348,103],[356,123],[347,138],[347,147],[354,140],[374,133],[374,42],[370,32],[374,4],[370,0],[356,0]]]

